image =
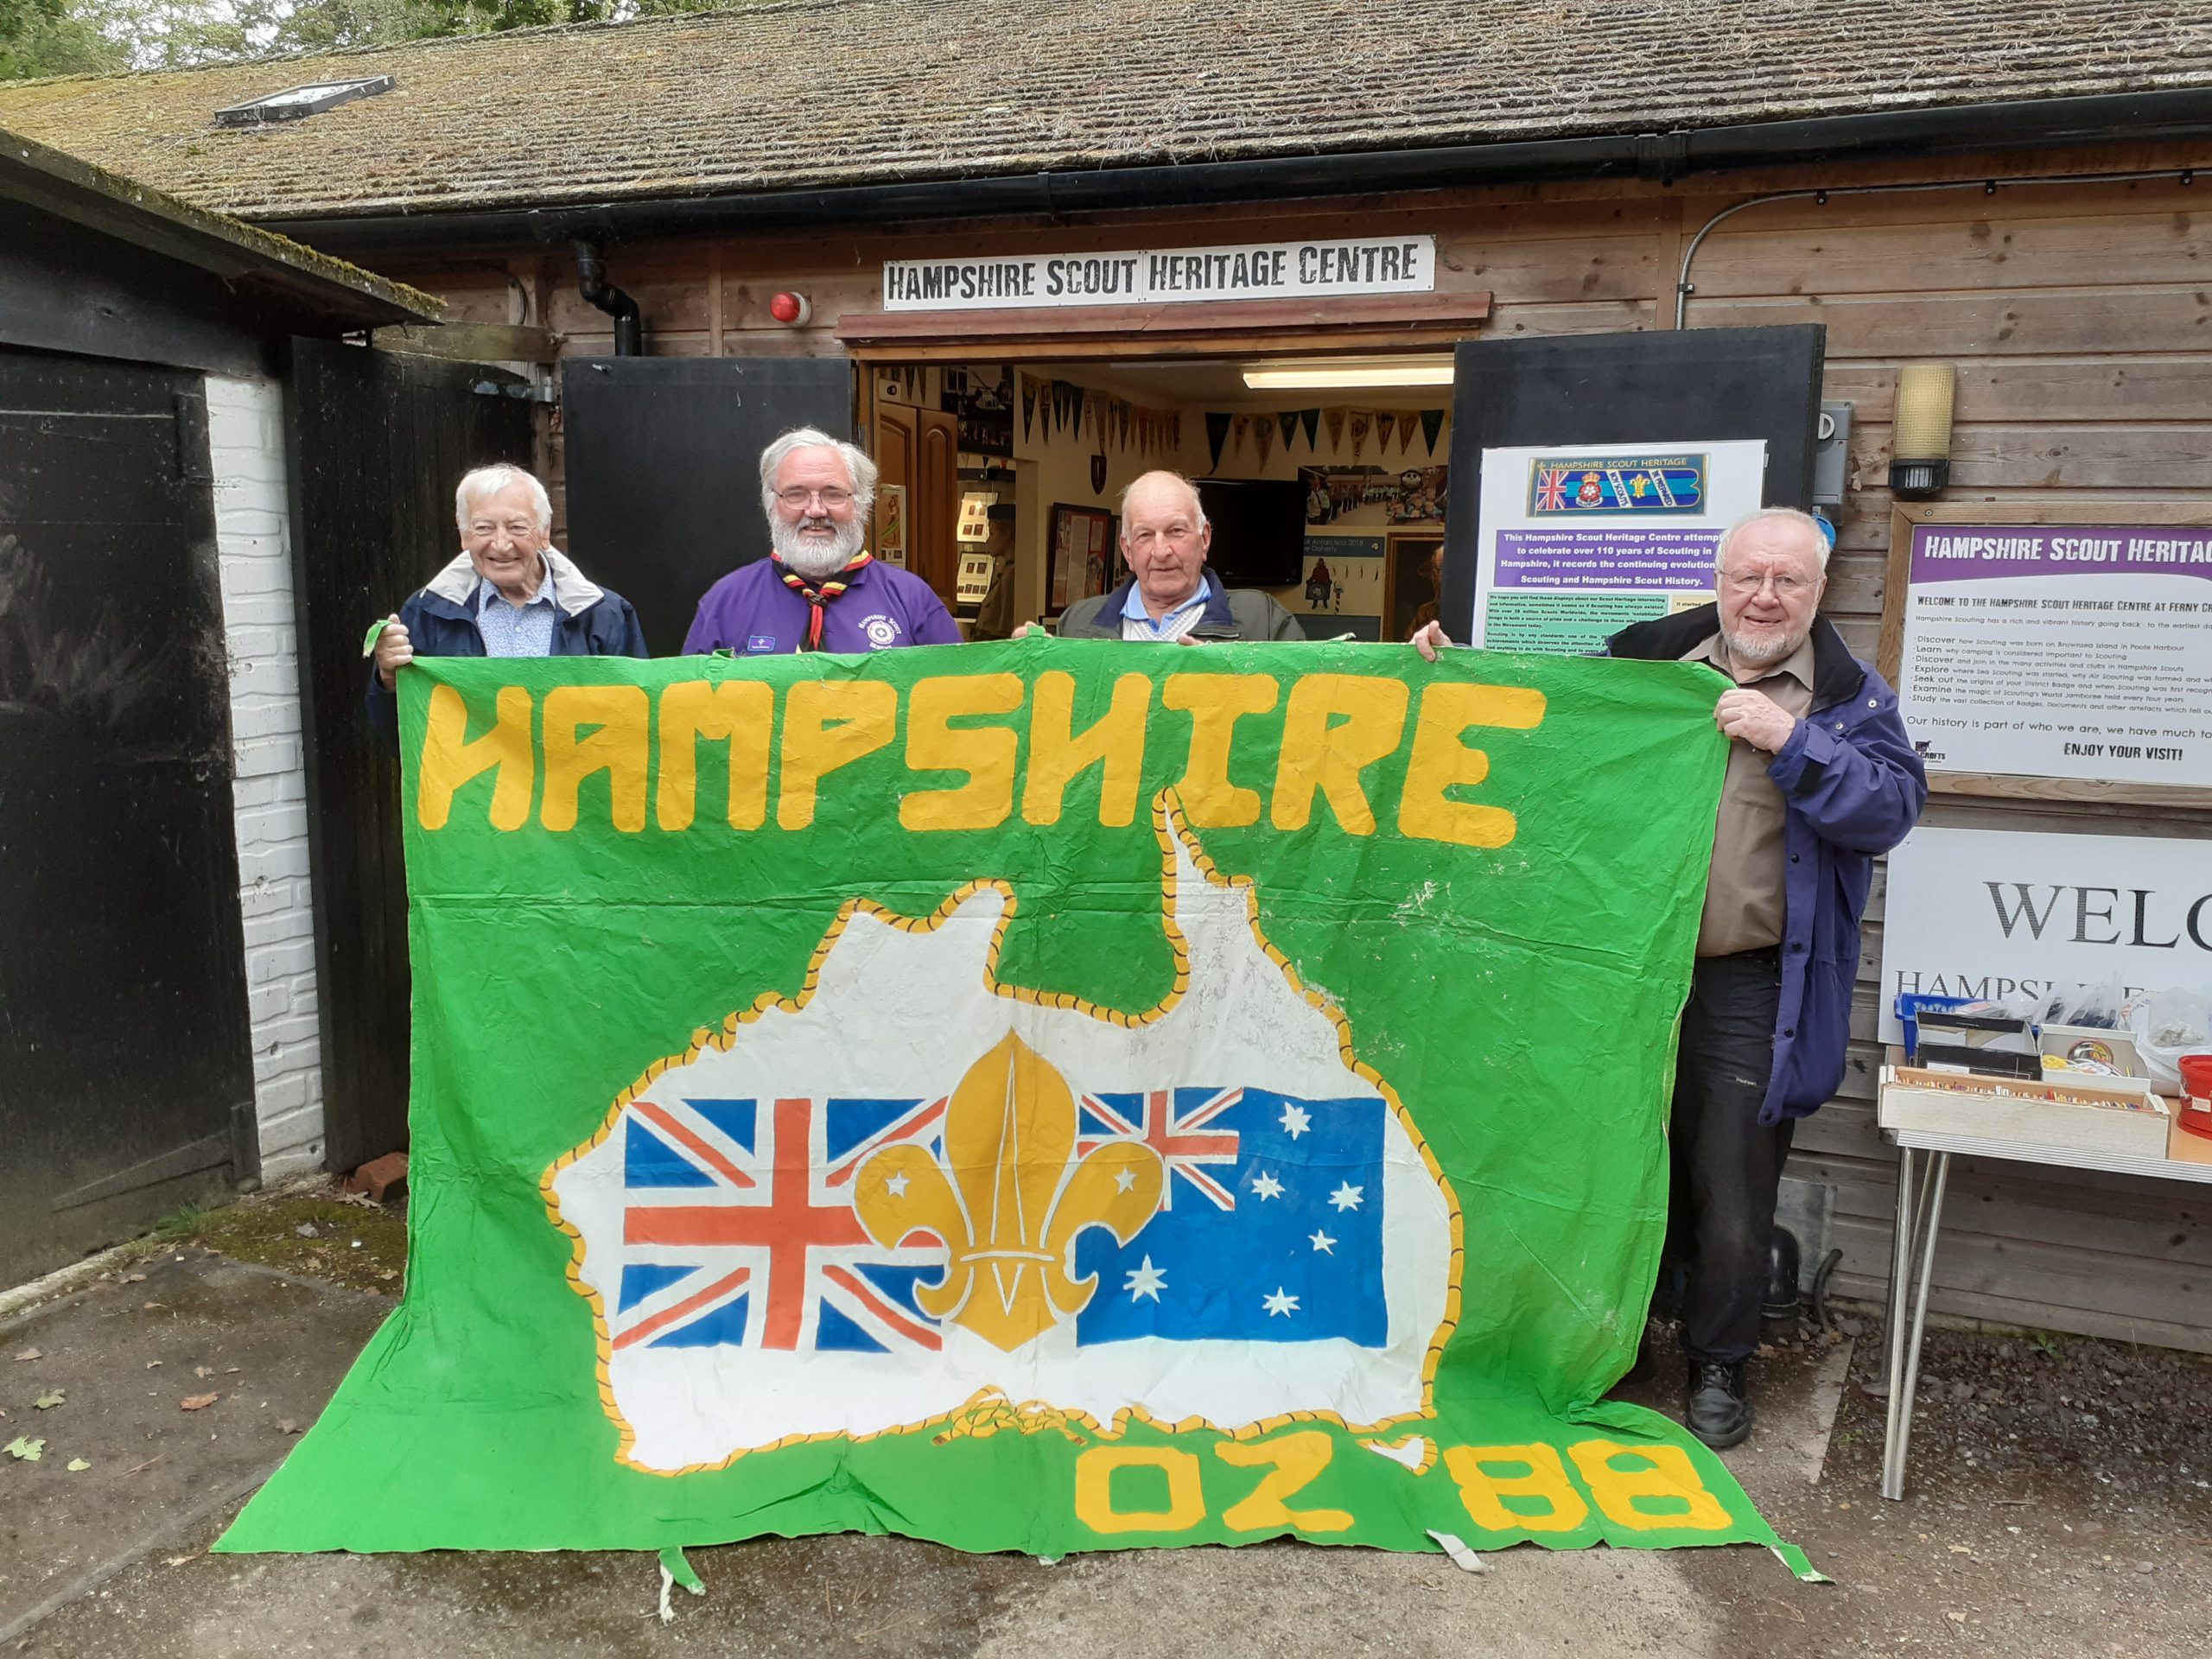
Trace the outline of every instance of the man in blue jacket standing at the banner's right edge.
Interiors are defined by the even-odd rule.
[[[1927,774],[1898,695],[1818,615],[1827,538],[1770,507],[1721,538],[1714,604],[1617,633],[1613,657],[1728,675],[1728,774],[1681,1011],[1668,1128],[1668,1256],[1686,1270],[1686,1420],[1710,1447],[1752,1431],[1774,1197],[1798,1117],[1843,1082],[1858,918],[1878,854],[1920,818]],[[1449,644],[1431,622],[1422,655]]]

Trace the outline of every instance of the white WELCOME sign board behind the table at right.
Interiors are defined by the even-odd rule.
[[[1889,854],[1882,1042],[1898,993],[2212,984],[2212,847],[2163,836],[1913,830]]]

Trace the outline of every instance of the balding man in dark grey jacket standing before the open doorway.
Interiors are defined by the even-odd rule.
[[[1214,526],[1181,473],[1146,473],[1121,491],[1121,557],[1130,577],[1060,615],[1064,639],[1305,639],[1298,619],[1259,588],[1225,588],[1206,568]]]

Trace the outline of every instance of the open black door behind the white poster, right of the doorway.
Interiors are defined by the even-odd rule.
[[[1462,343],[1451,389],[1447,630],[1460,635],[1475,613],[1484,449],[1765,438],[1761,502],[1809,511],[1825,352],[1818,323]]]

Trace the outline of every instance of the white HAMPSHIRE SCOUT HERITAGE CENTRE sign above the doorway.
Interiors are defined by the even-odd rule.
[[[1197,299],[1427,294],[1436,237],[1334,237],[1104,254],[887,259],[887,312],[998,312],[1022,305],[1159,305]]]

